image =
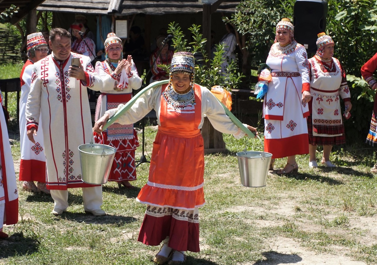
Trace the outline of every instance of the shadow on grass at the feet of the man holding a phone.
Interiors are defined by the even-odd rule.
[[[123,226],[127,223],[136,222],[137,219],[132,216],[120,216],[107,214],[106,216],[93,216],[88,213],[70,213],[64,212],[61,217],[56,217],[57,219],[62,218],[70,221],[75,221],[78,223],[93,223],[93,224],[113,224],[116,226]]]

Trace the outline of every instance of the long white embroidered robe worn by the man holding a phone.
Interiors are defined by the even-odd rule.
[[[49,189],[89,187],[92,185],[81,180],[78,146],[89,143],[93,132],[86,88],[99,91],[103,83],[89,57],[71,52],[59,64],[53,55],[33,65],[26,103],[27,128],[38,128],[41,114]],[[72,57],[80,58],[86,82],[68,76]]]

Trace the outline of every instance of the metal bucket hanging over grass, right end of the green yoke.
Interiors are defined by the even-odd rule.
[[[238,152],[236,156],[241,184],[246,187],[266,186],[272,154],[260,151],[242,151]]]

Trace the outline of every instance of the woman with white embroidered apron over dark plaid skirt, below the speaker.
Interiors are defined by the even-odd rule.
[[[346,71],[339,60],[334,58],[334,41],[325,32],[318,34],[317,53],[309,59],[310,116],[309,133],[309,167],[316,168],[317,145],[323,145],[321,163],[333,168],[330,161],[333,145],[346,142],[340,100],[349,112],[352,108],[351,94],[347,85]],[[346,111],[346,112],[347,112]]]

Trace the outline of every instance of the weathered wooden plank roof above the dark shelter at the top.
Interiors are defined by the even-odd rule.
[[[0,0],[1,1],[1,0]],[[239,0],[46,0],[37,10],[87,14],[179,14],[203,11],[203,5],[212,5],[217,12],[234,12]]]

